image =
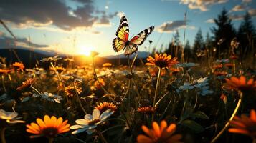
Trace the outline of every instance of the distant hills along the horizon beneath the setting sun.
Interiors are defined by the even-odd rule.
[[[45,51],[30,51],[27,49],[14,49],[16,51],[16,54],[19,56],[19,59],[23,62],[23,64],[26,67],[34,67],[35,64],[37,64],[37,61],[39,62],[40,66],[43,66],[45,68],[47,68],[49,66],[49,64],[44,64],[42,62],[40,62],[41,59],[43,58],[47,58],[49,56],[54,56],[54,53],[49,53],[49,52],[45,52]],[[16,58],[16,56],[14,55],[14,52],[11,52],[10,49],[0,49],[0,56],[1,57],[5,57],[7,64],[11,64],[14,63],[15,61],[18,61],[18,59]],[[62,57],[63,59],[67,58],[66,55],[59,55],[60,57]],[[133,54],[132,57],[134,57],[135,55]],[[135,62],[135,64],[141,64],[141,61],[139,61],[138,59],[145,59],[144,57],[147,57],[147,52],[139,52],[138,53],[138,58]],[[74,58],[75,59],[75,65],[85,65],[85,64],[92,64],[92,59],[90,56],[70,56],[69,58]],[[106,56],[106,57],[96,57],[95,58],[95,64],[96,66],[102,66],[102,64],[106,63],[106,62],[110,62],[114,65],[120,65],[120,64],[127,64],[127,58],[124,55],[120,55],[120,56]],[[63,61],[63,60],[59,60],[57,61],[57,64],[63,64],[65,66],[65,64],[67,64],[67,62]]]

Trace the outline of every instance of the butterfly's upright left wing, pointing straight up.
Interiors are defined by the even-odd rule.
[[[125,47],[125,43],[128,41],[129,37],[129,26],[125,16],[120,19],[118,31],[116,31],[115,35],[117,38],[113,40],[113,49],[118,52]]]

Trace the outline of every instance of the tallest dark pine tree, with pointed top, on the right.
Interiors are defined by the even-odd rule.
[[[236,31],[234,30],[231,19],[227,14],[225,9],[222,10],[221,14],[218,15],[217,19],[214,19],[214,23],[217,27],[213,27],[211,29],[214,34],[214,46],[217,46],[217,56],[220,57],[219,54],[228,54],[229,46],[232,39],[236,36]],[[217,44],[218,41],[222,39],[224,40],[221,44]]]

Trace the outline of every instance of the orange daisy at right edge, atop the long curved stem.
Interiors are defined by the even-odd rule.
[[[234,89],[240,92],[256,91],[256,81],[254,81],[254,79],[246,81],[245,76],[241,76],[240,78],[231,77],[230,79],[225,80],[227,83],[224,87],[227,89]]]

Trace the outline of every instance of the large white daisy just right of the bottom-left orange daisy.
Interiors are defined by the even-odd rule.
[[[87,134],[92,134],[98,124],[101,124],[108,117],[110,117],[114,112],[110,109],[106,110],[102,114],[98,109],[93,110],[93,114],[86,114],[85,119],[77,119],[75,122],[77,124],[70,127],[70,129],[77,129],[72,132],[72,134],[77,134],[80,132],[87,132]]]

